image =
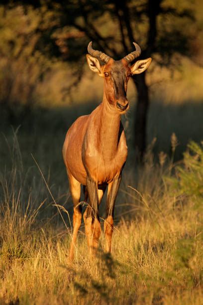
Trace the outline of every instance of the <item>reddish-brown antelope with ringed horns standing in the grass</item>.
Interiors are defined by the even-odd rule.
[[[89,198],[83,218],[90,256],[95,254],[98,247],[101,235],[99,206],[108,187],[104,234],[106,251],[111,252],[115,199],[127,158],[126,138],[120,121],[121,115],[129,109],[127,83],[133,74],[145,71],[151,63],[151,58],[147,58],[129,66],[141,54],[139,45],[135,42],[133,44],[135,51],[118,61],[94,50],[92,41],[88,45],[88,65],[104,80],[103,99],[90,115],[79,117],[73,123],[63,145],[63,159],[74,205],[70,260],[74,258],[77,233],[82,220],[81,184]],[[100,64],[99,59],[104,65]]]

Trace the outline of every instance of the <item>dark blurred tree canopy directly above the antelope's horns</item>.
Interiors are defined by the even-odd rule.
[[[174,53],[191,53],[196,21],[191,0],[50,1],[49,10],[59,20],[52,37],[69,62],[84,56],[90,40],[114,59],[132,51],[132,41],[142,46],[143,56],[153,56],[161,65],[170,65]]]

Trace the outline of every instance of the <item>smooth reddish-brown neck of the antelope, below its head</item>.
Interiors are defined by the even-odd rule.
[[[115,157],[119,128],[120,115],[115,109],[112,109],[104,95],[98,124],[98,147],[106,160]]]

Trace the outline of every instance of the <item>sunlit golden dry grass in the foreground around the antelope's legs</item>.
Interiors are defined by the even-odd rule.
[[[41,174],[24,169],[15,134],[13,143],[12,164],[0,179],[0,303],[202,304],[202,215],[196,197],[176,197],[167,182],[173,157],[166,165],[160,154],[155,164],[149,150],[136,174],[124,174],[112,256],[102,250],[102,234],[90,260],[82,225],[69,265],[67,193],[54,193],[49,175],[47,189]],[[68,230],[49,191],[63,206]]]

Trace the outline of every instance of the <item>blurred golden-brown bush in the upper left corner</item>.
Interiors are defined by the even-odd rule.
[[[47,32],[56,23],[44,6],[0,5],[0,106],[12,116],[22,112],[19,105],[29,109],[39,98],[37,86],[53,65]]]

